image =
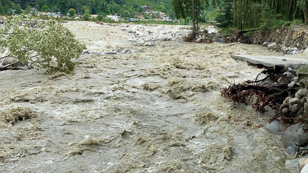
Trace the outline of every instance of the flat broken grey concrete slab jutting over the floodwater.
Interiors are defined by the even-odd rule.
[[[307,65],[307,59],[275,56],[230,55],[233,59],[246,61],[260,68],[277,69],[288,65]],[[283,60],[284,59],[284,60]],[[286,61],[285,61],[286,60]]]

